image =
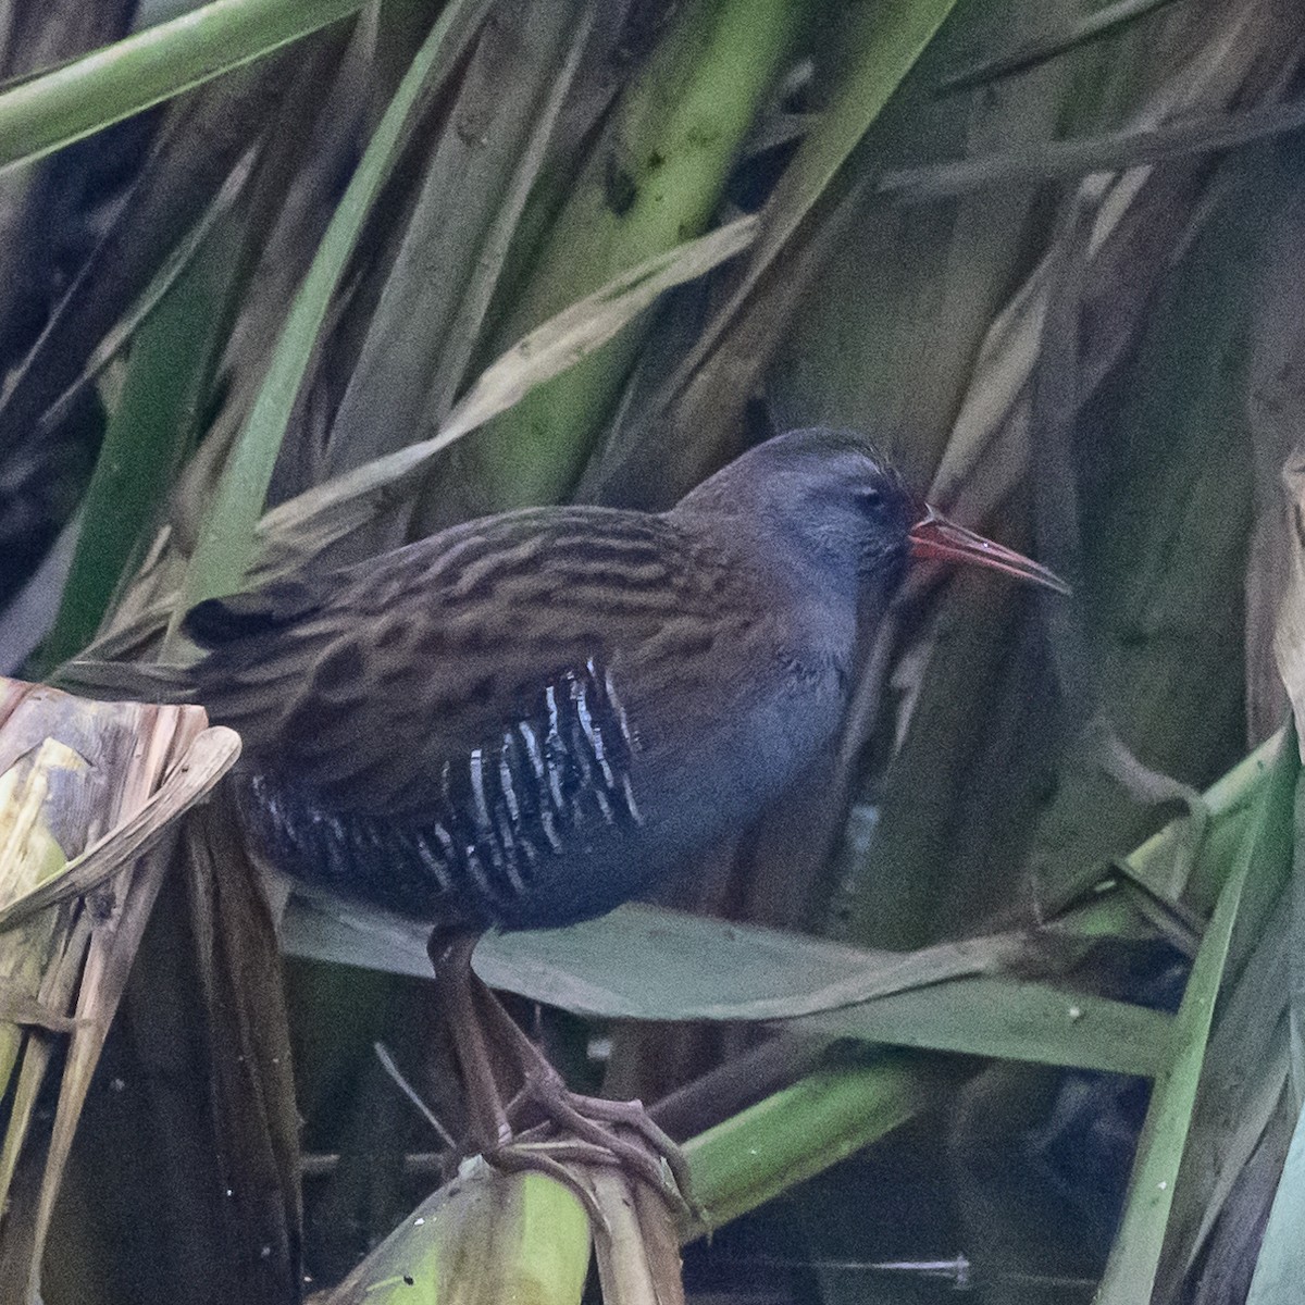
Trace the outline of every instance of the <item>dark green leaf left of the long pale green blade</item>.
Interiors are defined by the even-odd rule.
[[[224,342],[221,305],[239,262],[239,222],[219,219],[132,345],[82,508],[59,615],[37,656],[44,675],[85,647],[193,446]]]

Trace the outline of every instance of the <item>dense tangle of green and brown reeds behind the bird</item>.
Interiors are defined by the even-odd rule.
[[[184,656],[205,596],[864,431],[1074,602],[915,577],[838,756],[663,903],[809,944],[636,911],[491,977],[570,1007],[577,1081],[685,1088],[741,1216],[690,1298],[1293,1301],[1305,12],[219,0],[129,37],[163,17],[0,4],[0,671]],[[282,962],[231,840],[191,821],[102,1011],[47,1305],[286,1301],[438,1181],[371,1049],[455,1121],[425,985]],[[642,996],[586,1018],[568,977],[613,972]],[[9,1032],[10,1121],[52,1061],[0,1169],[18,1292],[61,1035]]]

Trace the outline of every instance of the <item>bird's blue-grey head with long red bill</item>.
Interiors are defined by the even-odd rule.
[[[1067,594],[1053,572],[921,504],[865,441],[821,427],[766,440],[686,499],[762,523],[782,548],[827,574],[890,583],[908,557],[970,562]]]

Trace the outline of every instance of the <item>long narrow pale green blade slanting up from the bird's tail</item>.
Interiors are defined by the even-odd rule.
[[[462,46],[459,38],[468,34],[484,8],[485,0],[454,0],[440,14],[368,141],[295,295],[268,375],[223,467],[200,542],[187,568],[172,632],[196,603],[240,587],[281,441],[317,346],[328,305],[345,275],[367,215],[399,155],[408,120],[423,91],[457,59]]]

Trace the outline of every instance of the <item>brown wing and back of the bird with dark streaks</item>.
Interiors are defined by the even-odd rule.
[[[589,658],[638,666],[719,624],[735,583],[660,517],[534,509],[470,522],[324,582],[243,595],[200,667],[247,763],[341,806],[420,809],[445,761],[496,741]],[[288,598],[288,594],[287,594]],[[210,612],[205,633],[223,629]]]

